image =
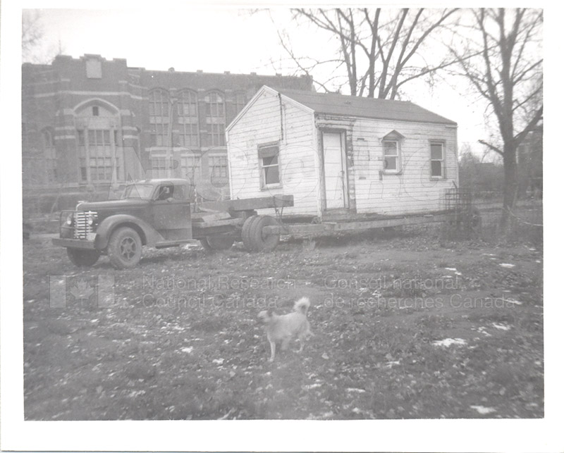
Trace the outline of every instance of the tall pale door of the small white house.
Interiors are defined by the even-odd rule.
[[[344,134],[323,132],[323,169],[326,209],[348,206]]]

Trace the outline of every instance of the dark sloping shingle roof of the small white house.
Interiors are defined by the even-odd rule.
[[[390,101],[344,94],[317,93],[298,89],[281,89],[281,94],[311,108],[315,113],[337,116],[360,116],[380,120],[412,121],[456,125],[452,120],[437,115],[409,101]]]

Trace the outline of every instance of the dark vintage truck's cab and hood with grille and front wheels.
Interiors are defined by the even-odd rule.
[[[132,268],[142,247],[171,247],[192,240],[191,187],[182,179],[130,182],[121,199],[79,201],[61,212],[56,245],[77,266],[92,266],[107,254],[115,268]]]

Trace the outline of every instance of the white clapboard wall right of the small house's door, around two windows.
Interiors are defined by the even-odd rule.
[[[400,172],[384,173],[381,139],[400,140]],[[443,142],[445,178],[431,178],[431,141]],[[458,185],[456,128],[430,123],[358,119],[353,127],[353,179],[358,213],[418,213],[443,207],[444,190]]]

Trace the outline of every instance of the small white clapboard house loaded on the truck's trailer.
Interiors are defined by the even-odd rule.
[[[283,214],[440,211],[457,125],[406,101],[262,87],[227,127],[231,198],[292,194]]]

